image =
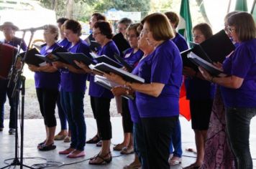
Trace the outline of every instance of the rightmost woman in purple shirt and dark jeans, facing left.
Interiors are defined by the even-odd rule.
[[[256,115],[256,27],[251,14],[238,12],[227,20],[228,30],[239,46],[224,60],[227,77],[213,77],[200,68],[204,78],[221,86],[226,109],[227,134],[237,168],[253,168],[250,154],[250,120]]]

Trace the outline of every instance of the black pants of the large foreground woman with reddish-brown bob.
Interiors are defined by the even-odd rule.
[[[170,169],[168,164],[170,136],[177,120],[178,116],[142,118],[149,169]]]

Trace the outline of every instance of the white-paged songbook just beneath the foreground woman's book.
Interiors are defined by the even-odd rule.
[[[95,75],[94,77],[94,82],[96,82],[96,84],[101,85],[102,87],[111,90],[113,87],[118,87],[118,86],[122,86],[120,84],[117,84],[115,82],[111,82],[109,79],[106,79],[106,77],[102,77],[99,75]],[[132,97],[132,95],[122,95],[122,97],[126,98],[126,99],[131,99],[134,100],[134,97]]]

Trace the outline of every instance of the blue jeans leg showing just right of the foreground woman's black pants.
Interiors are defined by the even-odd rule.
[[[181,128],[180,128],[180,119],[178,119],[177,124],[175,125],[174,131],[170,136],[170,154],[173,153],[173,156],[181,158],[182,148],[181,148]],[[173,151],[174,148],[174,151]]]

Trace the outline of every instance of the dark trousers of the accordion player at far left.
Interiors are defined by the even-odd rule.
[[[0,79],[0,127],[4,127],[4,103],[6,102],[6,95],[9,98],[10,120],[9,128],[15,128],[15,112],[17,112],[17,104],[15,104],[14,98],[12,98],[12,90],[14,83],[7,89],[8,80]],[[16,110],[15,110],[16,109]]]

